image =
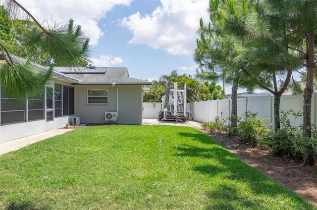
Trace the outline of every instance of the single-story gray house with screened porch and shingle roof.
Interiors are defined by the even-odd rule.
[[[14,62],[25,59],[13,56]],[[2,62],[3,63],[3,62]],[[46,71],[32,63],[34,69]],[[134,124],[143,120],[143,86],[127,68],[54,67],[44,97],[12,105],[0,87],[0,143],[66,124]],[[31,100],[31,99],[29,99]]]

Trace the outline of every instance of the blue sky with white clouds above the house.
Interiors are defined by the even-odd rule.
[[[82,26],[97,67],[126,67],[149,80],[177,70],[195,75],[199,20],[209,20],[209,0],[19,0],[40,22]],[[226,93],[231,86],[225,87]],[[245,91],[243,89],[238,92]]]

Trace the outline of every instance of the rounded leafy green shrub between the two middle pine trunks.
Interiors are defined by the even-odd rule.
[[[237,135],[240,136],[242,141],[250,145],[263,147],[272,130],[264,125],[269,119],[257,118],[256,116],[257,113],[245,112],[242,116],[243,120],[237,122]]]

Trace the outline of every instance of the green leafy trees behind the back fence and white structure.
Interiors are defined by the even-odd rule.
[[[190,75],[179,75],[177,70],[173,70],[169,75],[161,75],[159,81],[152,82],[150,91],[143,93],[144,102],[161,102],[169,78],[171,78],[171,86],[174,86],[174,83],[177,83],[177,87],[187,85],[187,102],[224,99],[225,92],[221,85],[215,82],[202,83]]]

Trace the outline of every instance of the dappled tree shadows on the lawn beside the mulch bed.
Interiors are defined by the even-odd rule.
[[[206,189],[207,209],[269,209],[264,206],[268,198],[276,203],[280,202],[280,199],[292,200],[291,203],[295,208],[301,208],[302,204],[310,207],[304,199],[270,180],[258,169],[245,164],[208,135],[199,132],[181,133],[181,135],[209,146],[200,147],[200,144],[188,142],[181,147],[175,147],[177,150],[175,156],[203,159],[193,160],[191,169],[206,175],[211,180],[216,176],[221,177],[220,181],[217,178],[213,180],[216,183],[211,181],[210,189]],[[252,198],[249,195],[252,195]]]

